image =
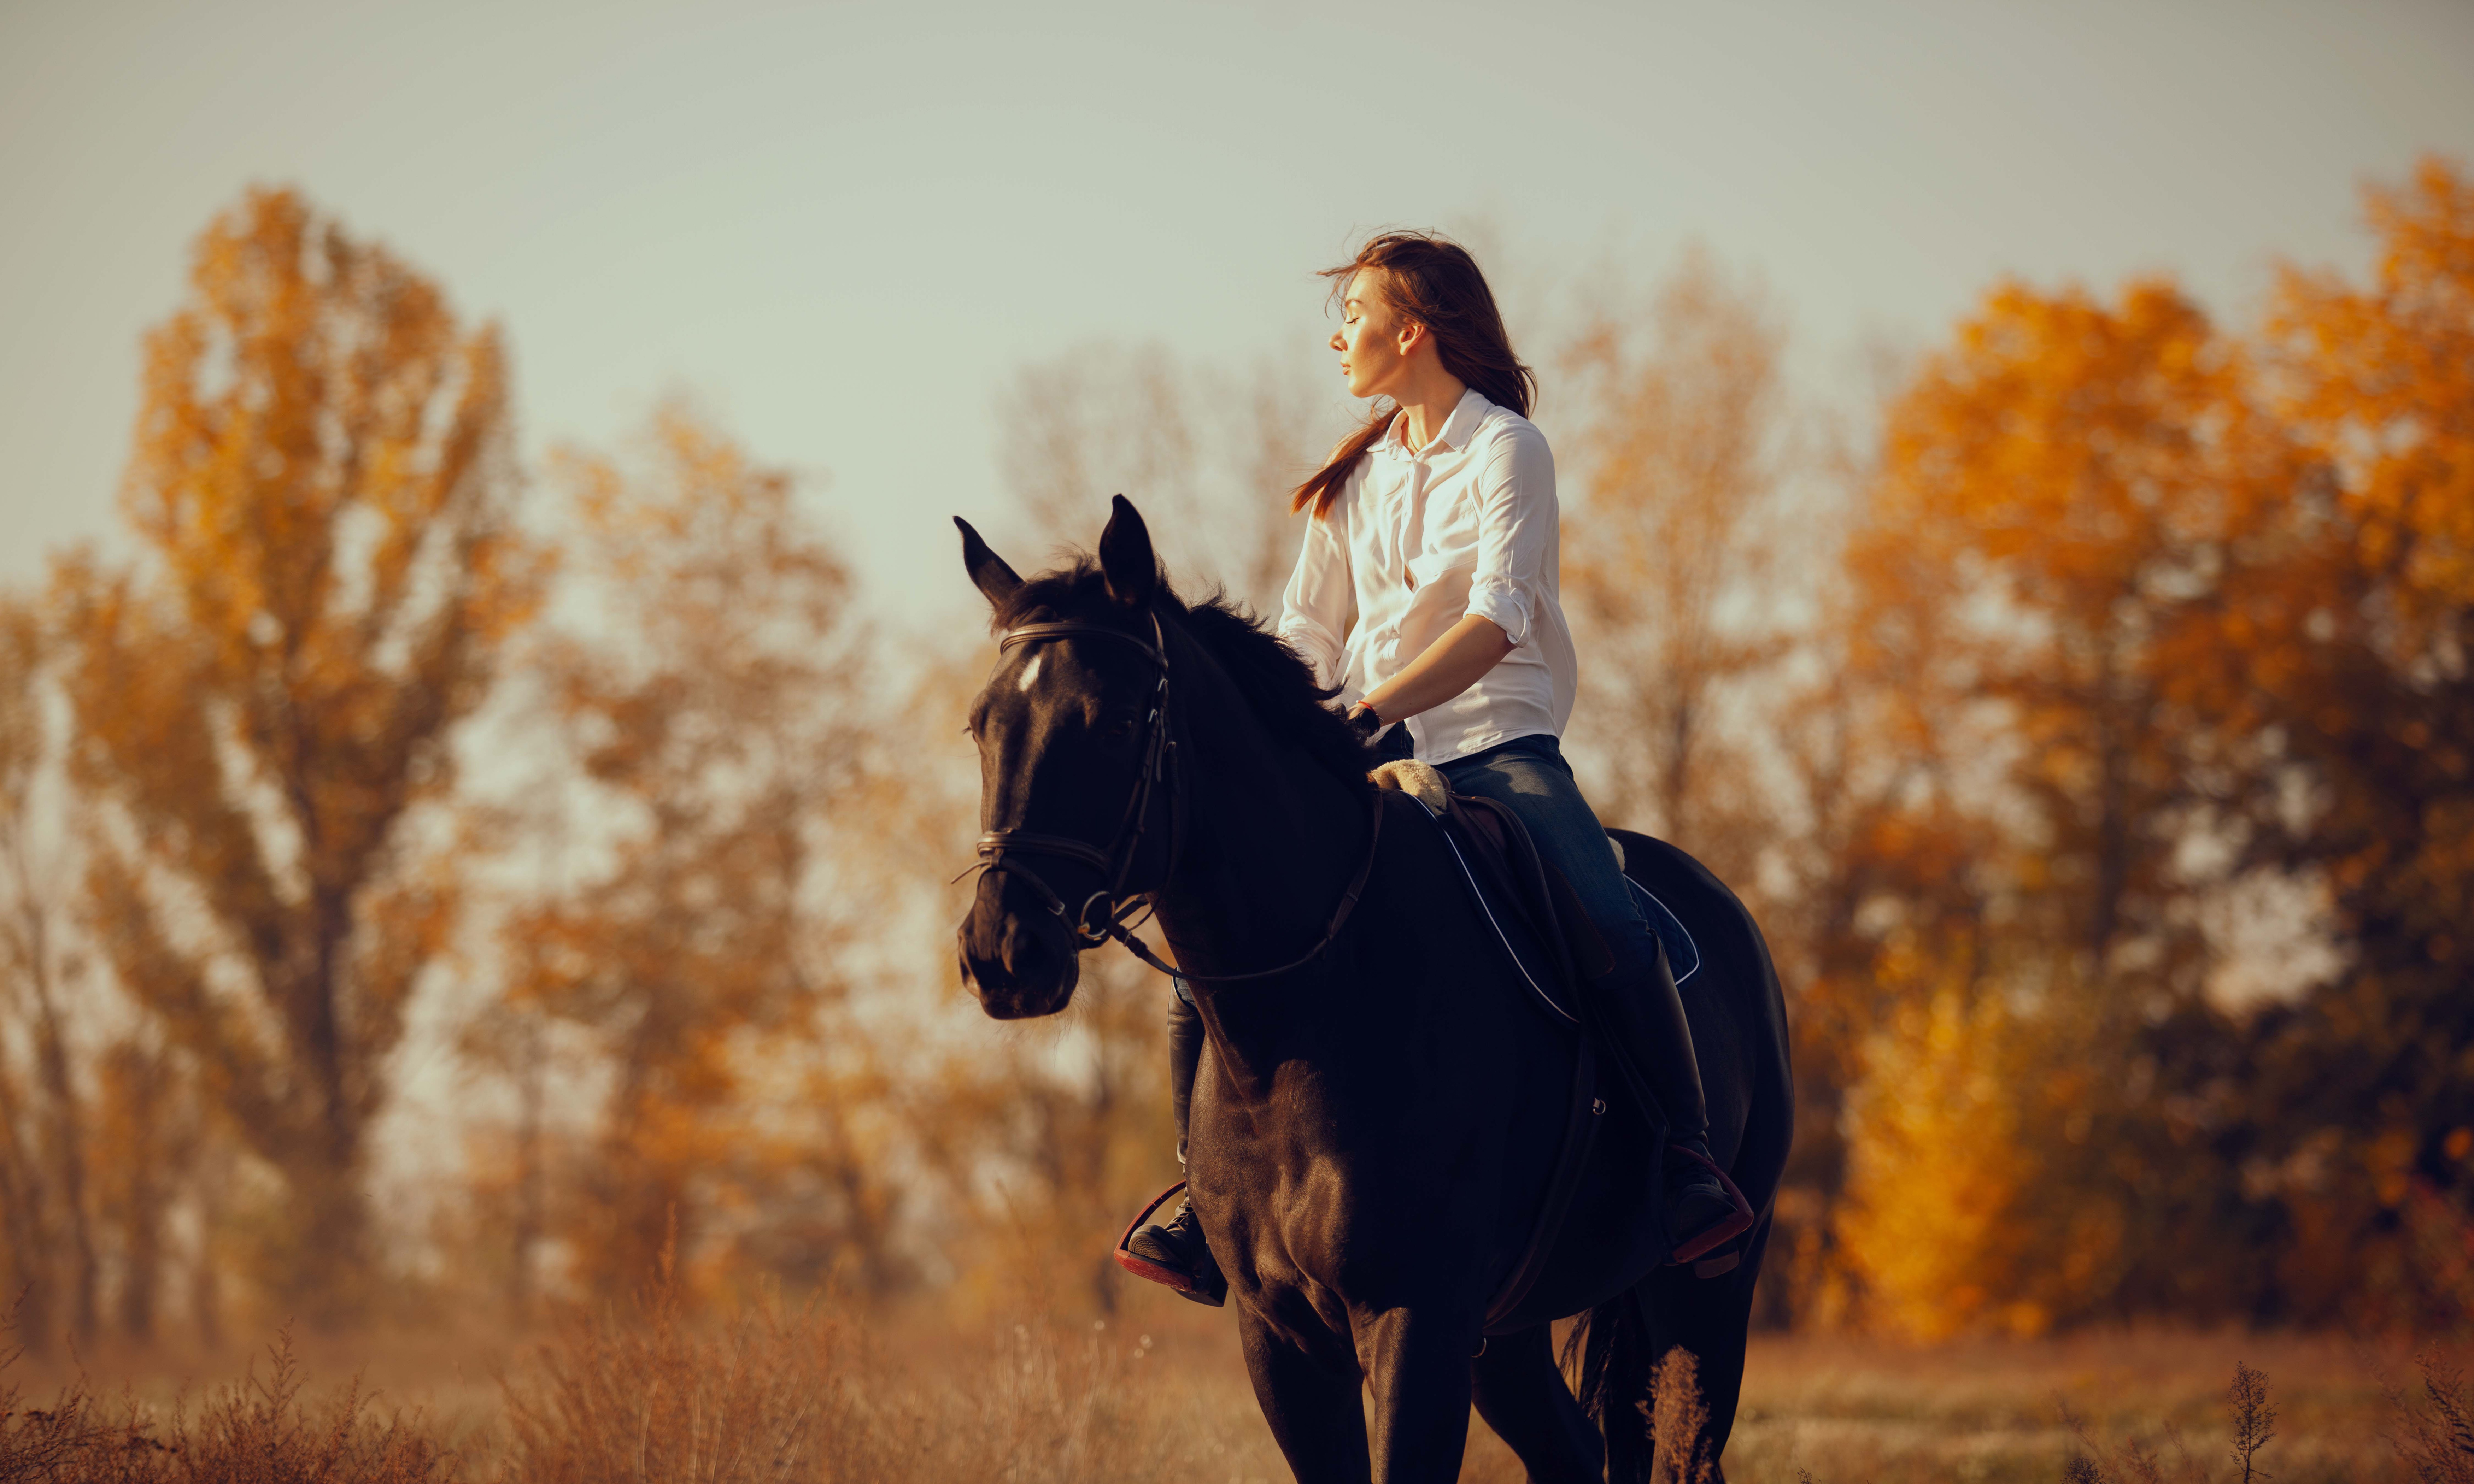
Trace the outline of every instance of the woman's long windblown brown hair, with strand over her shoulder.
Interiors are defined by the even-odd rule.
[[[1477,272],[1477,260],[1470,257],[1467,247],[1442,232],[1383,232],[1358,247],[1348,262],[1326,267],[1321,277],[1331,279],[1331,297],[1343,299],[1351,279],[1368,267],[1380,270],[1383,302],[1435,336],[1435,354],[1442,356],[1445,371],[1475,386],[1487,401],[1529,416],[1539,378],[1512,354],[1512,336],[1504,334],[1494,292],[1487,289],[1487,275]],[[1378,401],[1366,425],[1343,438],[1324,467],[1296,487],[1289,510],[1311,505],[1316,517],[1331,510],[1341,487],[1348,485],[1348,470],[1358,467],[1358,460],[1383,438],[1398,411],[1390,401]]]

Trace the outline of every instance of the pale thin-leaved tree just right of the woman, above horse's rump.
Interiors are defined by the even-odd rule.
[[[1566,351],[1564,591],[1588,665],[1573,717],[1601,814],[1749,883],[1752,688],[1786,650],[1786,331],[1757,284],[1692,247],[1648,304],[1598,297]]]

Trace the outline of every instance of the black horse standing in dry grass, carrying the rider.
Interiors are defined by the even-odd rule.
[[[1702,945],[1685,1009],[1710,1148],[1759,1212],[1742,1261],[1663,1266],[1655,1135],[1608,1091],[1561,1237],[1489,1326],[1566,1135],[1576,1041],[1514,989],[1440,829],[1366,782],[1294,650],[1168,589],[1123,497],[1096,561],[1032,581],[955,524],[1004,636],[970,712],[990,871],[962,974],[997,1019],[1056,1014],[1079,950],[1153,905],[1210,1031],[1192,1200],[1296,1477],[1457,1479],[1475,1400],[1531,1479],[1648,1479],[1640,1402],[1672,1345],[1700,1360],[1695,1452],[1714,1462],[1791,1123],[1786,1009],[1734,893],[1618,836]],[[1549,1341],[1573,1313],[1581,1397]]]

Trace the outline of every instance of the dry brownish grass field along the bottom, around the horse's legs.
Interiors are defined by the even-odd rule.
[[[2177,1331],[1942,1348],[1757,1338],[1727,1474],[1739,1484],[1806,1474],[1813,1484],[2061,1482],[2078,1452],[2098,1464],[2078,1479],[2232,1482],[2239,1469],[2227,1457],[2224,1397],[2236,1360],[2269,1378],[2279,1417],[2259,1462],[2279,1484],[2412,1477],[2382,1437],[2397,1432],[2397,1415],[2380,1373],[2417,1380],[2402,1348]],[[297,1442],[285,1447],[359,1437],[364,1464],[334,1472],[339,1484],[1289,1477],[1254,1410],[1227,1316],[1165,1294],[1138,1294],[1101,1323],[878,1318],[861,1328],[792,1311],[737,1326],[636,1313],[579,1321],[547,1341],[302,1336],[294,1365],[307,1390],[292,1405]],[[285,1432],[262,1390],[230,1390],[247,1373],[270,1378],[265,1353],[104,1350],[84,1360],[84,1373],[96,1383],[87,1412],[96,1437],[119,1439],[104,1449],[116,1472],[54,1477],[280,1477],[195,1472],[208,1447],[262,1454]],[[379,1395],[346,1427],[334,1397],[354,1373]],[[15,1420],[0,1422],[0,1479],[45,1477],[12,1469],[10,1430],[22,1442],[27,1405],[57,1412],[49,1397],[69,1375],[59,1358],[12,1370],[22,1397]],[[218,1395],[247,1405],[215,1412]],[[396,1442],[383,1442],[398,1412]],[[223,1432],[210,1435],[203,1422],[218,1415]],[[131,1454],[129,1420],[186,1452]],[[1509,1484],[1522,1469],[1472,1422],[1462,1479]]]

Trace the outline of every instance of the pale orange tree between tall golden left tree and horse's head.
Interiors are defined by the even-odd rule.
[[[866,631],[794,480],[685,403],[628,458],[564,450],[564,616],[532,675],[576,769],[571,858],[502,942],[510,1007],[589,1036],[609,1093],[559,1229],[631,1291],[725,1269],[901,1276],[841,967],[878,900],[849,851]]]

